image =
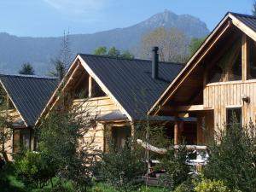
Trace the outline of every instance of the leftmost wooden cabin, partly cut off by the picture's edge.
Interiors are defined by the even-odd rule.
[[[9,160],[21,148],[36,148],[33,128],[56,85],[57,80],[53,78],[0,75],[0,113],[11,126],[8,129],[9,139],[4,146]]]

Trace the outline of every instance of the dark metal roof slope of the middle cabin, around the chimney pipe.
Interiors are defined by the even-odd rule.
[[[132,119],[145,119],[148,109],[183,68],[160,62],[159,79],[151,78],[152,62],[79,54]]]

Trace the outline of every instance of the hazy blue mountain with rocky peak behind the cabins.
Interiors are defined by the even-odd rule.
[[[93,34],[70,35],[70,47],[76,53],[93,53],[99,46],[135,49],[147,32],[157,27],[175,27],[188,38],[200,38],[209,33],[207,25],[191,15],[176,15],[166,10],[134,26],[116,28]],[[17,73],[24,62],[31,62],[37,74],[49,72],[51,58],[60,53],[61,37],[30,38],[0,33],[0,73]],[[136,54],[136,53],[135,53]]]

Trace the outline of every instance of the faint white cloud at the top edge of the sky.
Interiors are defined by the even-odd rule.
[[[71,14],[90,14],[102,10],[108,0],[44,0],[55,9]]]

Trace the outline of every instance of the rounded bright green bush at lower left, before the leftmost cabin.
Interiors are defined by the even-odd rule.
[[[49,166],[41,154],[30,151],[17,160],[15,170],[26,185],[36,188],[43,188],[55,177],[53,166]]]

